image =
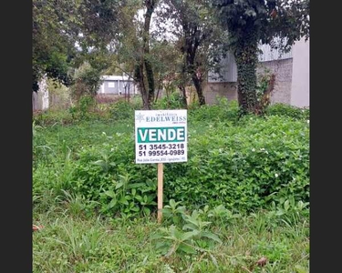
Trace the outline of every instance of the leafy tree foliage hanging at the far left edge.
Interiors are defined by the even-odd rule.
[[[77,54],[75,6],[67,0],[33,0],[32,4],[32,90],[38,90],[46,74],[68,86],[68,68]]]

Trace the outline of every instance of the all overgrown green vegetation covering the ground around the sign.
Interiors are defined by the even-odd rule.
[[[308,272],[308,110],[189,109],[160,226],[156,167],[134,164],[135,107],[35,119],[34,272]]]

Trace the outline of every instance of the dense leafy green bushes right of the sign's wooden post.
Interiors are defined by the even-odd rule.
[[[165,168],[169,198],[232,209],[264,207],[284,192],[308,200],[306,123],[248,116],[198,130],[189,130],[188,162]]]

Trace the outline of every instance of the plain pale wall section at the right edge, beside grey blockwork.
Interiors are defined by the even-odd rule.
[[[310,42],[302,38],[292,49],[291,105],[310,106]]]

